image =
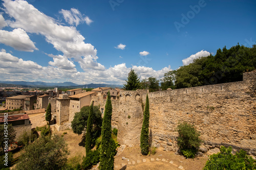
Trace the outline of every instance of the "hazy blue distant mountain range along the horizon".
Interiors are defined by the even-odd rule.
[[[0,81],[0,87],[7,86],[10,87],[10,85],[15,86],[22,86],[22,87],[75,87],[75,88],[97,88],[97,87],[119,87],[122,88],[121,85],[116,84],[84,84],[79,85],[72,82],[63,82],[63,83],[46,83],[46,82],[26,82],[26,81]]]

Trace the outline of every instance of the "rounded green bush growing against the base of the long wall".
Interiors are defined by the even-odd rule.
[[[179,133],[177,144],[181,153],[187,158],[194,158],[202,142],[200,133],[194,125],[186,122],[179,123],[176,130]]]

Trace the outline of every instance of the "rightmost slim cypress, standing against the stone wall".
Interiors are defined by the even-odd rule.
[[[148,102],[148,96],[146,94],[146,104],[143,113],[143,125],[140,134],[140,150],[142,155],[148,154],[148,148],[150,145],[148,144],[148,125],[150,123],[150,104]]]

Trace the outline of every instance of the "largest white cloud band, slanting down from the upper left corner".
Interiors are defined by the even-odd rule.
[[[83,68],[89,66],[99,69],[102,67],[97,63],[97,50],[92,44],[84,42],[85,38],[75,27],[59,25],[55,19],[38,11],[26,1],[3,1],[5,12],[15,19],[6,20],[8,26],[45,36],[46,41],[53,44],[57,51],[62,52],[63,56],[67,58],[74,58],[75,61],[83,64],[81,66]],[[78,15],[79,11],[74,9],[73,13]]]

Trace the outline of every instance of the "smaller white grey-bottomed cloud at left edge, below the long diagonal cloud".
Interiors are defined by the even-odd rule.
[[[28,34],[23,29],[14,29],[12,32],[0,30],[0,43],[13,47],[18,51],[34,52],[38,50]]]

